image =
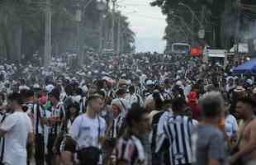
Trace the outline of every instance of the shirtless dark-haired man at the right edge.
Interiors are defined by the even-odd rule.
[[[239,152],[230,158],[230,164],[242,161],[243,164],[256,160],[256,103],[249,97],[237,101],[235,111],[244,120],[244,127],[240,132]]]

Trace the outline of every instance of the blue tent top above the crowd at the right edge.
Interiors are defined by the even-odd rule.
[[[256,58],[239,65],[233,72],[238,74],[256,74]]]

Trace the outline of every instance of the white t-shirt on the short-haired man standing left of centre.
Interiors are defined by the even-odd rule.
[[[106,121],[102,117],[91,119],[87,114],[83,114],[73,121],[69,134],[78,140],[79,149],[88,147],[101,148],[98,137],[102,138],[105,135],[105,131]]]

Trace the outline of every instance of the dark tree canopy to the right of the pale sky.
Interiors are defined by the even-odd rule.
[[[249,31],[247,27],[250,27],[256,18],[256,2],[252,0],[241,0],[240,4],[232,0],[154,0],[150,4],[160,7],[163,14],[168,17],[164,35],[168,43],[167,50],[177,40],[190,44],[192,40],[197,40],[195,46],[207,44],[212,48],[229,49],[237,37],[237,20],[241,22],[239,37],[243,39],[244,31]],[[240,15],[237,14],[239,11]],[[204,40],[198,39],[200,22],[197,20],[201,21],[206,31]]]

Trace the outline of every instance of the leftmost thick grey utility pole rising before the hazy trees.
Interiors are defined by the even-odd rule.
[[[45,56],[44,66],[47,67],[51,60],[51,7],[50,0],[46,0],[45,7]]]

